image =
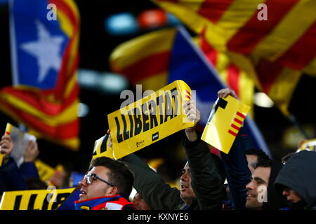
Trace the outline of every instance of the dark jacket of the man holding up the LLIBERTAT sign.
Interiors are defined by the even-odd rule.
[[[185,140],[185,153],[190,166],[192,188],[197,197],[188,209],[221,209],[225,196],[223,179],[204,141]],[[214,155],[216,156],[216,155]],[[162,178],[136,155],[127,155],[122,161],[133,171],[134,188],[154,210],[187,209],[180,199],[180,191],[164,183]]]

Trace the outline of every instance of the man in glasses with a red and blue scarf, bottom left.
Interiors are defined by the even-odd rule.
[[[133,210],[127,200],[133,186],[133,174],[120,161],[106,157],[91,162],[90,171],[79,182],[77,210]]]

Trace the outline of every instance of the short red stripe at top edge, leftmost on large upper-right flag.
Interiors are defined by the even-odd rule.
[[[218,22],[234,0],[204,0],[197,13],[213,23]]]

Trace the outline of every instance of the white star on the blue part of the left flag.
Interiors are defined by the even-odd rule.
[[[48,75],[49,69],[59,71],[61,65],[60,48],[63,36],[51,36],[46,27],[39,22],[35,21],[38,31],[38,40],[23,43],[20,47],[25,50],[29,55],[37,58],[39,66],[39,77],[37,81],[41,83]]]

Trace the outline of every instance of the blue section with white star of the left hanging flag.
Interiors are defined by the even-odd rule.
[[[13,84],[50,90],[56,85],[69,41],[58,20],[48,17],[46,0],[12,0],[11,58]],[[48,9],[47,9],[48,8]]]

